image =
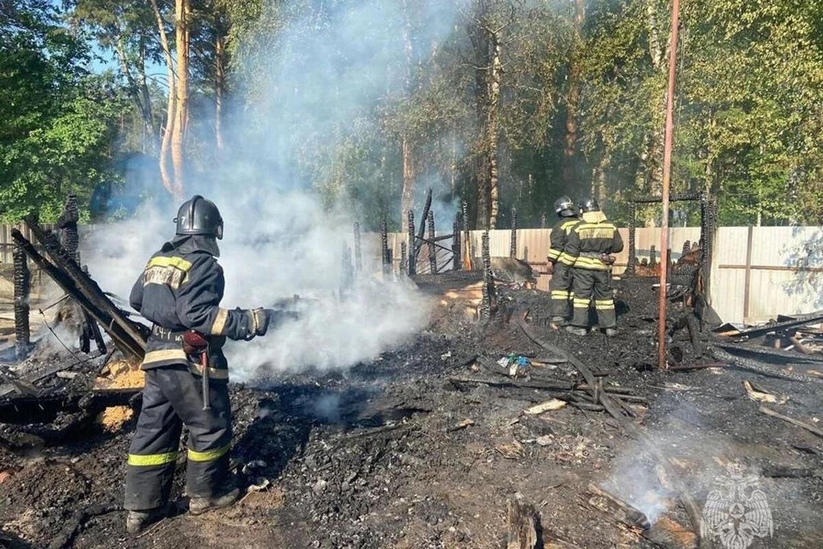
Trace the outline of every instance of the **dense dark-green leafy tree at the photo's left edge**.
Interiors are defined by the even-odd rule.
[[[109,81],[87,74],[83,44],[49,6],[15,5],[0,44],[0,216],[59,215],[67,193],[91,196],[110,181],[122,104]]]

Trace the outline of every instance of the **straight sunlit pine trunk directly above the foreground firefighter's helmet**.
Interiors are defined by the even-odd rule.
[[[171,163],[174,166],[174,198],[183,199],[184,194],[184,144],[188,126],[188,19],[192,8],[190,0],[175,0],[174,12],[177,16],[174,39],[177,45],[177,99],[174,131],[171,136]]]

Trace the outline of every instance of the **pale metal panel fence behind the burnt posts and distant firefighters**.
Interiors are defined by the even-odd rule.
[[[616,254],[614,272],[621,275],[629,259],[629,230],[619,229],[625,247]],[[517,231],[517,257],[536,272],[546,268],[549,229]],[[472,230],[472,249],[479,250],[483,231]],[[379,235],[370,235],[379,246]],[[389,235],[396,268],[404,233]],[[700,227],[670,229],[672,260],[680,258],[684,244],[700,240]],[[637,258],[659,260],[660,229],[635,229]],[[492,230],[489,246],[493,256],[509,256],[510,230]],[[450,248],[449,240],[441,242]],[[421,258],[425,258],[425,246]],[[428,263],[423,260],[421,265]],[[379,256],[373,265],[379,266]],[[805,314],[823,309],[823,227],[720,227],[714,240],[709,301],[725,322],[763,323],[778,314]],[[549,277],[537,278],[537,287],[548,290]]]

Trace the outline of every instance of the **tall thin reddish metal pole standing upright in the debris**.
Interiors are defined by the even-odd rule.
[[[666,277],[668,274],[668,199],[672,176],[672,133],[674,133],[674,81],[677,74],[677,26],[680,21],[680,0],[672,0],[672,45],[669,48],[669,82],[666,97],[666,142],[663,146],[663,222],[660,227],[660,321],[658,326],[658,366],[668,368],[666,361]]]

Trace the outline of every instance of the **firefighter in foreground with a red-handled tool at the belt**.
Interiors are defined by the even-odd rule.
[[[291,316],[219,306],[224,279],[216,257],[223,220],[214,203],[195,196],[184,202],[174,221],[177,235],[151,257],[130,296],[133,308],[154,325],[142,364],[142,410],[128,450],[128,533],[165,516],[184,424],[189,512],[200,514],[237,500],[239,489],[228,471],[231,405],[221,347],[226,338],[263,336]],[[192,341],[200,347],[192,347]]]

